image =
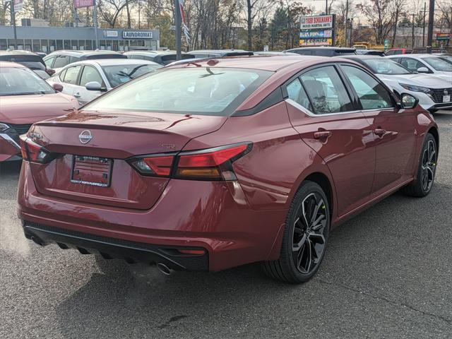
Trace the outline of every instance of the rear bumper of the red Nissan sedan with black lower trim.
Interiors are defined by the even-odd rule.
[[[28,237],[176,269],[199,270],[163,256],[162,249],[206,249],[211,271],[274,260],[286,215],[287,210],[251,210],[237,182],[172,179],[153,208],[133,210],[44,196],[28,162],[20,172],[18,216]],[[118,242],[128,242],[127,251]],[[137,246],[151,250],[136,251]]]

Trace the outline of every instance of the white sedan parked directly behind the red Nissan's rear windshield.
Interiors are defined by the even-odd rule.
[[[80,105],[85,105],[112,88],[161,67],[145,60],[85,60],[69,64],[47,82],[51,85],[61,83],[63,93],[73,95]]]

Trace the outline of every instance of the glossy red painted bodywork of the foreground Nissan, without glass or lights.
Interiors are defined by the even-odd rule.
[[[237,109],[244,111],[295,73],[324,62],[256,57],[220,59],[215,66],[275,71]],[[171,68],[177,67],[196,66]],[[380,128],[388,133],[377,136]],[[210,270],[274,260],[287,210],[304,179],[316,174],[328,182],[334,227],[413,179],[431,128],[436,128],[432,117],[419,108],[312,116],[290,100],[242,117],[74,112],[33,127],[42,136],[33,141],[64,155],[45,165],[24,162],[18,215],[84,234],[202,247]],[[93,134],[87,145],[78,140],[85,129]],[[318,131],[331,136],[314,138]],[[237,179],[230,182],[145,177],[125,161],[235,143],[252,148],[233,162]],[[111,186],[71,183],[72,155],[112,158]]]

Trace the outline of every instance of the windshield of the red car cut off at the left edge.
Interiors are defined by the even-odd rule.
[[[55,93],[48,83],[30,69],[2,67],[0,70],[1,96]]]

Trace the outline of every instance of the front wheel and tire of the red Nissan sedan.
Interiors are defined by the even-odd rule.
[[[403,189],[403,193],[408,196],[427,196],[434,184],[437,160],[438,148],[435,138],[431,133],[427,133],[417,165],[416,179]]]

